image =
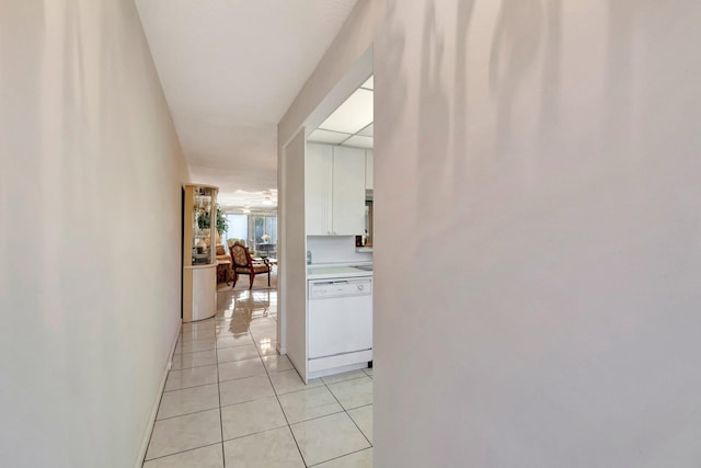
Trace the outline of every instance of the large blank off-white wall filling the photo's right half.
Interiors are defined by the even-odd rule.
[[[376,466],[698,466],[700,23],[696,0],[388,1]]]

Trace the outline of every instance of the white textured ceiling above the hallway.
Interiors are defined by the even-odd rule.
[[[136,0],[193,182],[276,193],[277,123],[356,2]]]

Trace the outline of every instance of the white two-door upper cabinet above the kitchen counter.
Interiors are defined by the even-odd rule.
[[[365,150],[307,145],[307,236],[356,236],[365,230]]]

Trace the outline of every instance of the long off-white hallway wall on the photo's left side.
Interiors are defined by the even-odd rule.
[[[0,4],[0,454],[134,467],[180,323],[186,170],[131,0]]]

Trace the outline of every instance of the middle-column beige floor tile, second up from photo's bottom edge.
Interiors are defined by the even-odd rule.
[[[286,425],[287,421],[275,397],[221,408],[225,441]]]

